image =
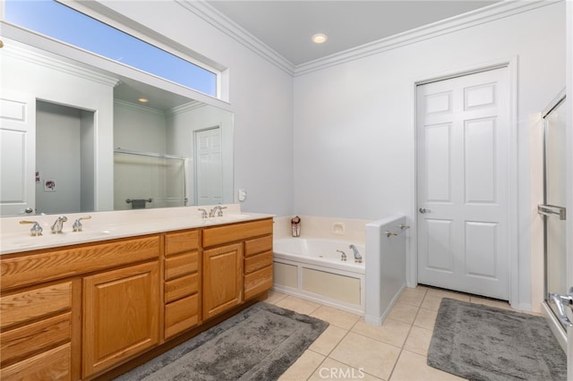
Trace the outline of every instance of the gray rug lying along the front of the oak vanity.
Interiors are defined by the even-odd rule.
[[[259,302],[116,380],[274,380],[327,326]]]

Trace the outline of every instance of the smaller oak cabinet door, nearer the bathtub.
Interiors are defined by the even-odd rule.
[[[203,319],[243,301],[243,243],[203,251]]]

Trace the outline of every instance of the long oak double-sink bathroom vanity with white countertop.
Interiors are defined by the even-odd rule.
[[[2,379],[105,375],[187,340],[272,287],[271,216],[172,216],[150,224],[144,214],[125,213],[140,223],[106,233],[86,227],[83,239],[30,237],[27,230],[16,239],[3,230]]]

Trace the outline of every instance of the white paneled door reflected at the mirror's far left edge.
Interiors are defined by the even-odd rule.
[[[33,214],[36,98],[2,89],[0,95],[0,216]]]

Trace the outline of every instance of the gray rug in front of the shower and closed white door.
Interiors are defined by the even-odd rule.
[[[443,299],[428,365],[470,380],[565,380],[567,356],[542,317]]]

